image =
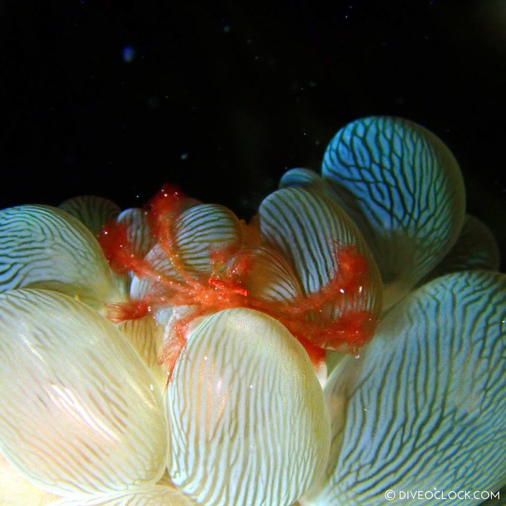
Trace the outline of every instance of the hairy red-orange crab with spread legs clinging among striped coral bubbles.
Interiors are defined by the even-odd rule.
[[[110,320],[141,318],[167,305],[192,308],[179,318],[164,343],[161,361],[169,372],[186,343],[189,323],[233,307],[255,309],[280,321],[305,347],[315,366],[325,358],[324,347],[356,353],[371,338],[376,321],[369,312],[347,310],[337,317],[334,315],[335,307],[344,306],[367,287],[367,264],[354,246],[334,243],[336,272],[320,290],[289,301],[264,300],[248,292],[245,280],[254,266],[248,250],[239,249],[241,245],[210,251],[212,272],[207,279],[197,279],[187,272],[177,251],[175,230],[177,218],[187,202],[179,190],[164,185],[146,206],[151,233],[172,263],[176,277],[160,273],[146,259],[138,258],[124,225],[111,223],[103,228],[99,239],[115,271],[131,271],[138,278],[152,281],[144,299],[108,305]],[[260,233],[256,222],[241,223],[246,238],[242,246],[258,246]]]

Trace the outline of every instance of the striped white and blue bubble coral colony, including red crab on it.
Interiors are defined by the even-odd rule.
[[[506,277],[465,200],[372,116],[249,224],[168,185],[0,210],[0,504],[497,500]]]

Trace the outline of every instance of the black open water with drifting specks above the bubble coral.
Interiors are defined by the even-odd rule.
[[[506,0],[4,0],[0,43],[0,207],[167,181],[248,218],[348,121],[392,114],[452,149],[505,256]]]

